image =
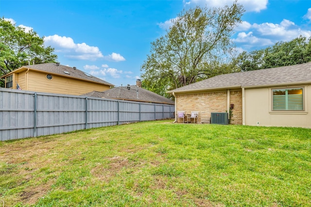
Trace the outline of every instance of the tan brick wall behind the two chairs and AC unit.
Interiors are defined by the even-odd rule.
[[[176,95],[177,111],[199,111],[199,122],[209,123],[211,112],[226,112],[227,91]],[[232,124],[242,124],[242,90],[230,91],[230,104],[234,104]],[[182,119],[178,119],[182,122]]]

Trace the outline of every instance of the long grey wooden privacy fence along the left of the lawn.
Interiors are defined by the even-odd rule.
[[[0,88],[0,140],[174,118],[174,105]]]

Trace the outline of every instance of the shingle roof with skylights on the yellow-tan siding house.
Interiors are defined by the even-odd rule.
[[[89,75],[88,73],[85,73],[79,69],[71,68],[68,66],[63,66],[60,64],[56,64],[56,63],[43,63],[43,64],[36,64],[36,65],[28,65],[28,66],[23,66],[19,69],[16,69],[4,76],[8,76],[14,72],[18,72],[25,70],[25,69],[32,69],[32,70],[37,70],[37,71],[44,71],[53,75],[60,75],[60,76],[64,76],[64,77],[70,77],[70,78],[74,78],[74,79],[81,79],[81,80],[86,80],[86,81],[90,81],[90,82],[95,82],[95,83],[101,83],[104,85],[108,85],[108,86],[114,86],[113,84],[110,84],[102,79],[99,79],[95,76]],[[67,72],[67,73],[66,73]],[[1,78],[3,78],[4,76],[2,76]]]

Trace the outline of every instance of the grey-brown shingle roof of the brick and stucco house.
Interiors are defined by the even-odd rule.
[[[221,88],[268,87],[306,83],[311,83],[311,62],[294,66],[217,75],[188,86],[170,90],[168,93]]]

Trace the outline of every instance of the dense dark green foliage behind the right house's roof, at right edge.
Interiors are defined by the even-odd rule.
[[[242,52],[234,62],[241,71],[291,66],[311,61],[311,38],[299,36],[262,50]]]

